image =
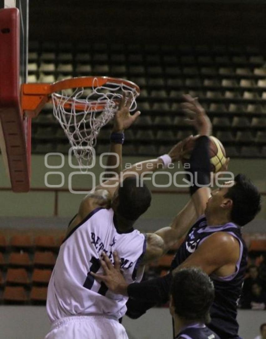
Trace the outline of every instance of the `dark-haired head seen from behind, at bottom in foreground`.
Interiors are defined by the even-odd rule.
[[[170,313],[174,318],[207,323],[213,299],[213,283],[200,268],[183,268],[174,275],[170,288]]]

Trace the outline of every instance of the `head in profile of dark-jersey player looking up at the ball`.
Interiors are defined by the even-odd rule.
[[[244,226],[261,210],[261,195],[258,188],[244,174],[234,178],[233,186],[227,182],[213,190],[207,202],[205,214],[227,214],[230,221]]]

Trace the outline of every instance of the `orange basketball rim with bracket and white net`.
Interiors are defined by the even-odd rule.
[[[53,84],[23,84],[22,110],[35,117],[46,102],[67,136],[80,168],[92,158],[100,129],[115,115],[123,96],[130,111],[137,108],[139,87],[128,80],[109,77],[79,77]]]

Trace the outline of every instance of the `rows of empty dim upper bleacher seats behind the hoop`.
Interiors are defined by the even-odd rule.
[[[124,154],[159,154],[190,132],[182,120],[182,94],[199,97],[213,123],[213,135],[228,156],[265,157],[266,55],[256,47],[135,44],[29,44],[29,81],[105,75],[136,82],[142,115],[125,138]],[[61,49],[63,48],[63,50]],[[148,129],[147,129],[148,126]],[[68,141],[51,105],[33,120],[33,153],[67,153]],[[182,132],[182,133],[180,133]],[[96,151],[107,148],[103,128]],[[150,147],[150,143],[152,146]]]

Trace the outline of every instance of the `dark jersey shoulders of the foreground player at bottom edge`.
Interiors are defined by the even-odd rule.
[[[207,326],[195,324],[183,328],[177,335],[176,339],[220,339],[220,337],[212,332]]]

